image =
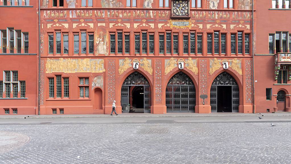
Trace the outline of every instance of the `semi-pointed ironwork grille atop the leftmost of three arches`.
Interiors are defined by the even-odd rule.
[[[127,76],[124,80],[123,85],[150,85],[148,80],[139,72],[134,72]]]

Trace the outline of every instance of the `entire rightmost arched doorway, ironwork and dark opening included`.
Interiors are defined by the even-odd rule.
[[[211,112],[238,112],[239,87],[227,72],[219,74],[210,88]]]

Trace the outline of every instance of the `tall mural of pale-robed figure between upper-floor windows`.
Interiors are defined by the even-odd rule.
[[[95,54],[108,55],[108,35],[104,26],[97,27],[95,32]]]

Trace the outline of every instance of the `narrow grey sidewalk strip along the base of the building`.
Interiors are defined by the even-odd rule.
[[[210,114],[197,114],[197,113],[179,113],[179,114],[118,114],[118,116],[110,114],[59,114],[59,115],[0,115],[0,119],[8,118],[86,118],[86,117],[221,117],[221,116],[291,116],[291,112],[279,113],[262,113],[262,114],[249,114],[249,113],[210,113]]]

